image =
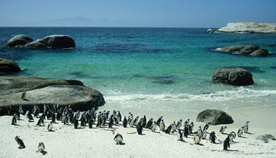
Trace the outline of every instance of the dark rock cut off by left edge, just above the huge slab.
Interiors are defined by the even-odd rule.
[[[20,71],[21,69],[14,61],[0,58],[0,75],[8,75]]]

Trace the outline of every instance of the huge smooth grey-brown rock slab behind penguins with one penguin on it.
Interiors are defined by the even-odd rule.
[[[23,90],[25,99],[21,99]],[[19,106],[32,110],[33,106],[72,105],[72,110],[89,110],[105,103],[97,90],[83,86],[81,81],[66,79],[42,79],[37,77],[0,77],[0,115],[7,106],[16,112]]]

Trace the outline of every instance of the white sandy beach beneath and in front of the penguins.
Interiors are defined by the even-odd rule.
[[[224,141],[227,135],[219,132],[222,125],[210,126],[208,129],[208,132],[213,130],[216,132],[217,144],[211,144],[207,139],[201,140],[201,144],[197,145],[193,143],[192,135],[184,138],[184,141],[177,141],[176,133],[167,135],[159,132],[159,128],[157,132],[144,129],[144,135],[138,135],[128,134],[136,132],[136,128],[129,126],[128,128],[123,128],[121,125],[113,126],[112,129],[108,129],[96,128],[93,125],[90,129],[87,124],[84,128],[74,129],[72,125],[66,126],[57,121],[53,128],[55,132],[48,132],[47,125],[50,120],[45,121],[45,126],[35,126],[37,118],[34,118],[34,122],[28,122],[25,116],[21,116],[22,120],[17,121],[19,126],[12,126],[12,116],[1,116],[0,157],[275,157],[276,141],[270,140],[264,143],[255,139],[265,134],[276,136],[274,112],[274,108],[251,109],[243,115],[240,115],[241,112],[238,110],[228,112],[235,123],[227,125],[226,133],[237,132],[238,128],[245,124],[246,119],[249,119],[248,132],[251,134],[246,133],[242,135],[243,137],[236,137],[235,142],[230,142],[230,150],[226,151],[222,150],[221,141]],[[128,115],[121,114],[123,117]],[[147,116],[147,119],[150,117]],[[194,132],[198,126],[204,126],[204,123],[196,122],[195,118],[196,115],[190,117],[195,123]],[[186,118],[182,119],[185,121]],[[164,120],[166,121],[166,115]],[[166,126],[168,124],[166,122]],[[116,144],[113,140],[115,134],[111,130],[114,130],[115,134],[119,132],[123,135],[124,144]],[[26,148],[18,148],[17,142],[14,141],[17,135],[23,140]],[[45,152],[36,152],[39,142],[45,144]]]

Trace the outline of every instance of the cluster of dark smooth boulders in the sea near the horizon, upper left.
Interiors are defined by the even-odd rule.
[[[8,41],[5,48],[30,48],[30,49],[41,49],[41,48],[75,48],[75,41],[68,35],[51,35],[44,37],[43,39],[37,39],[33,41],[31,37],[24,34],[19,34],[10,41]]]

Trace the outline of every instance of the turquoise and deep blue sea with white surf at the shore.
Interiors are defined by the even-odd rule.
[[[276,104],[276,34],[208,34],[208,28],[0,28],[0,57],[23,70],[12,76],[77,79],[99,90],[103,108],[148,112],[238,110]],[[66,34],[76,48],[3,48],[14,35],[35,40]],[[217,52],[255,44],[270,57]],[[244,68],[252,86],[213,84],[217,68]]]

